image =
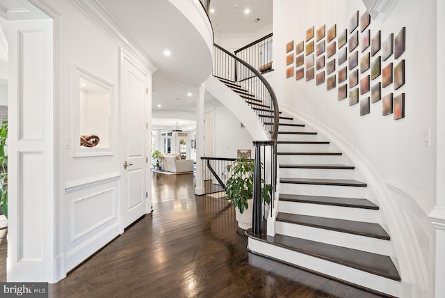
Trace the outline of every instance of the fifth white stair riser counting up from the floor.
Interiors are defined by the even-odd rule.
[[[281,178],[355,179],[354,170],[332,168],[280,168]]]

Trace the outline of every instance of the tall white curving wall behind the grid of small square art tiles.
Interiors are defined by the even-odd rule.
[[[383,41],[390,33],[396,36],[403,26],[406,27],[403,56],[395,61],[393,55],[382,62],[382,66],[389,62],[396,65],[405,59],[405,86],[397,91],[392,84],[382,89],[382,95],[405,93],[405,118],[402,120],[393,120],[392,115],[382,116],[381,101],[371,103],[369,115],[359,116],[359,104],[350,107],[348,100],[338,101],[337,88],[326,91],[326,84],[316,86],[315,79],[296,81],[295,75],[289,79],[285,76],[287,42],[294,40],[296,44],[305,40],[309,27],[318,29],[324,24],[326,30],[337,24],[338,36],[348,28],[350,17],[357,10],[359,16],[366,10],[361,1],[274,1],[275,72],[272,83],[282,111],[300,116],[332,136],[364,171],[387,216],[403,280],[414,283],[414,291],[426,292],[432,288],[434,277],[434,258],[430,251],[434,237],[427,214],[435,205],[437,153],[437,67],[433,58],[436,56],[435,1],[398,1],[385,22],[371,20],[368,28],[371,38],[381,30]],[[359,39],[361,37],[362,33]],[[359,44],[359,58],[362,56],[360,47]],[[381,54],[382,50],[377,55]],[[333,58],[337,58],[337,54]],[[371,61],[374,58],[371,57]],[[338,63],[336,68],[338,71]],[[359,78],[369,74],[370,70],[359,74]],[[371,86],[381,78],[371,81]],[[359,95],[359,99],[367,96],[370,93]],[[429,128],[431,146],[425,146],[424,132]]]

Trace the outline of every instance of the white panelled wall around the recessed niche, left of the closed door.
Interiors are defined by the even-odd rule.
[[[68,1],[47,2],[60,14],[55,29],[56,77],[60,76],[56,86],[56,148],[60,148],[56,183],[63,187],[56,193],[55,202],[59,216],[55,277],[58,280],[120,233],[119,126],[115,125],[112,131],[112,155],[73,157],[72,150],[79,146],[79,135],[73,134],[75,119],[79,117],[75,112],[79,109],[74,107],[80,103],[79,94],[74,93],[79,84],[74,66],[112,84],[115,92],[111,102],[118,104],[119,47]]]

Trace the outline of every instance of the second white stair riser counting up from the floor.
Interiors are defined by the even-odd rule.
[[[384,256],[395,256],[393,246],[389,240],[289,224],[282,221],[277,221],[275,232],[286,236],[348,247],[350,249],[358,249],[359,251],[369,251],[370,253],[378,253]]]

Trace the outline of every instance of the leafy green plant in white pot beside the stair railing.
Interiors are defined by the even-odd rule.
[[[254,168],[254,160],[245,158],[238,158],[227,166],[227,171],[233,173],[225,185],[226,199],[235,205],[238,226],[244,230],[252,228]],[[272,186],[261,179],[261,201],[270,203],[271,190]],[[245,212],[247,209],[249,212]]]

